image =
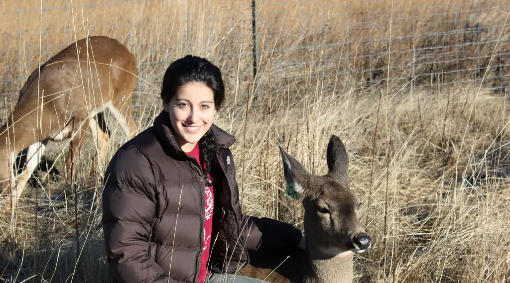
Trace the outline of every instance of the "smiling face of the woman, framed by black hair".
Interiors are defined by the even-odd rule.
[[[163,108],[170,114],[170,122],[184,152],[193,150],[211,128],[216,114],[213,91],[199,82],[182,86]]]

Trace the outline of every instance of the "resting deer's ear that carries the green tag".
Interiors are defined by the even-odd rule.
[[[308,187],[308,183],[310,180],[310,173],[290,154],[285,152],[280,144],[278,144],[278,148],[280,149],[280,155],[282,156],[282,161],[284,165],[284,176],[287,184],[295,183],[294,190],[301,194],[304,193]]]

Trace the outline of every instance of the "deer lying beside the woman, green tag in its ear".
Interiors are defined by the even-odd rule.
[[[250,265],[237,274],[272,283],[352,282],[354,253],[368,249],[370,237],[360,222],[360,201],[349,189],[349,159],[342,141],[335,135],[329,140],[329,172],[325,176],[309,174],[296,159],[279,149],[285,181],[303,199],[307,250],[296,251],[288,259],[287,254],[277,251],[249,251]]]

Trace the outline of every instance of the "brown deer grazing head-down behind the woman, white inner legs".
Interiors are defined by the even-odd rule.
[[[0,129],[0,182],[12,192],[13,209],[49,140],[70,138],[69,185],[88,127],[97,145],[91,174],[103,164],[109,136],[101,112],[109,109],[129,138],[136,134],[131,117],[135,80],[135,56],[117,40],[103,36],[72,43],[29,76]],[[25,168],[15,178],[15,156],[26,148]]]

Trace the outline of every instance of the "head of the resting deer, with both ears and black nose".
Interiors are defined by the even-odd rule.
[[[332,135],[327,146],[328,173],[311,175],[279,147],[287,184],[302,199],[307,247],[315,257],[333,258],[346,251],[363,252],[370,237],[360,221],[360,200],[349,188],[349,158],[344,144]]]

